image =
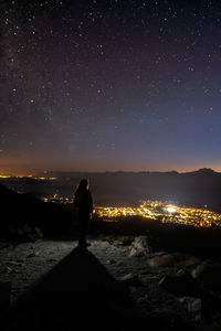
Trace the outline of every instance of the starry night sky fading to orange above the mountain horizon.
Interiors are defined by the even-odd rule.
[[[221,170],[221,3],[0,1],[0,173]]]

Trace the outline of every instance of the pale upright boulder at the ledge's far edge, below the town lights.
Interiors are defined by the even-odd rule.
[[[137,236],[130,246],[130,256],[147,256],[152,252],[148,236]]]

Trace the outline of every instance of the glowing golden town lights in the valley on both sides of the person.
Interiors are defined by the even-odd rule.
[[[57,194],[43,200],[63,204],[70,204],[73,201]],[[177,223],[198,227],[221,226],[221,214],[207,209],[183,207],[160,201],[143,201],[138,207],[95,206],[94,215],[106,222],[118,222],[120,217],[141,216],[147,220],[160,220],[162,223]]]

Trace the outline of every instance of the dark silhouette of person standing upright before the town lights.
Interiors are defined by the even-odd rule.
[[[74,207],[77,216],[78,245],[88,246],[86,235],[88,232],[90,218],[93,212],[92,193],[88,190],[90,183],[82,179],[74,193]]]

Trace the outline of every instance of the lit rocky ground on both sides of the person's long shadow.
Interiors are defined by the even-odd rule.
[[[212,300],[217,307],[217,300],[220,300],[219,265],[194,256],[152,249],[147,236],[136,237],[130,245],[122,241],[91,239],[90,243],[87,249],[114,278],[128,287],[131,299],[145,317],[166,314],[166,320],[180,318],[197,329],[206,328],[207,302]],[[38,241],[17,245],[2,242],[0,282],[11,284],[11,305],[76,246],[77,243],[72,241]],[[215,316],[218,329],[212,330],[220,330],[217,321],[219,311],[214,310],[212,317],[208,314],[207,328],[214,324]]]

